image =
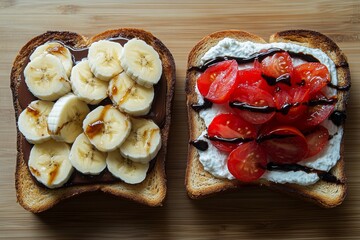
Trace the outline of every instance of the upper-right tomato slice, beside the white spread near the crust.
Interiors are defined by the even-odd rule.
[[[310,95],[320,91],[330,82],[330,74],[324,64],[309,62],[294,68],[293,81],[295,84],[305,82],[310,89]]]

